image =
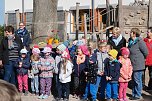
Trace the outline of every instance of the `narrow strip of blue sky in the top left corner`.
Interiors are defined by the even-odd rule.
[[[0,0],[0,25],[4,24],[5,0]]]

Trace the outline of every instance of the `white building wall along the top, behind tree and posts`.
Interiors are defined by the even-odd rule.
[[[92,0],[59,0],[58,6],[62,6],[64,9],[68,10],[71,6],[75,6],[76,2],[80,3],[80,6],[90,5]],[[105,4],[106,0],[94,0],[95,6]],[[148,1],[148,0],[146,0]],[[33,0],[24,0],[25,10],[33,8]],[[123,0],[123,4],[129,4],[134,2],[134,0]],[[110,4],[116,4],[118,0],[110,0]],[[22,11],[22,0],[5,0],[5,12],[10,10],[20,9]]]

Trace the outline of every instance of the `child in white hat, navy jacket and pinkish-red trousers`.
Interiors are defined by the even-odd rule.
[[[25,96],[28,95],[28,69],[30,67],[30,61],[27,57],[27,52],[28,51],[26,49],[22,49],[20,51],[21,55],[15,63],[15,67],[17,68],[18,89],[19,92],[22,93],[22,85],[24,85]]]

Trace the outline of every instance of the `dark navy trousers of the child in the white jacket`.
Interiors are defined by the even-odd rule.
[[[66,99],[69,99],[69,94],[70,94],[70,85],[69,83],[61,83],[59,82],[59,86],[58,86],[59,92],[59,98],[62,98],[63,95],[65,95]]]

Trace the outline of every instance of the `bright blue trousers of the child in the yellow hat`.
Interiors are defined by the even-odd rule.
[[[107,82],[106,86],[106,98],[117,99],[118,98],[118,83]]]

